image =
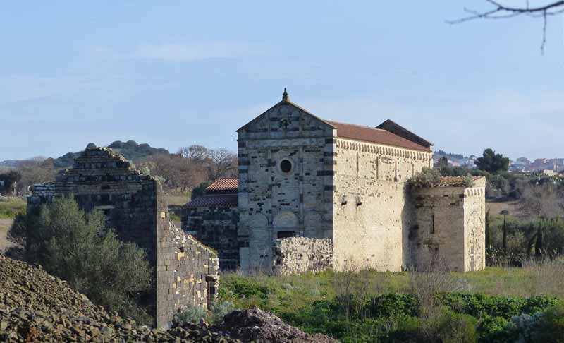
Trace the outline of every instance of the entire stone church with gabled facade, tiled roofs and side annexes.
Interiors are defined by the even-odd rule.
[[[433,147],[395,122],[324,120],[284,90],[237,132],[238,179],[183,210],[183,229],[216,248],[223,270],[396,272],[437,258],[458,272],[485,267],[485,179],[410,189],[433,167]]]

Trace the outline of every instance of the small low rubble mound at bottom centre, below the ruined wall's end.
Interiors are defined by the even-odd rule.
[[[326,335],[308,335],[297,327],[284,323],[272,313],[259,308],[244,311],[233,311],[223,318],[220,325],[212,327],[230,337],[243,342],[276,342],[276,343],[329,343],[338,342]]]

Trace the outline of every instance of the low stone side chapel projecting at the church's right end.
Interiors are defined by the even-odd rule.
[[[454,272],[486,267],[484,192],[484,179],[472,188],[415,191],[418,225],[410,232],[413,267],[425,267],[437,259]]]

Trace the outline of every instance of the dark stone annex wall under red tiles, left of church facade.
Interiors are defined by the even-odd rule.
[[[213,247],[223,271],[239,265],[239,215],[237,207],[183,207],[182,229]]]

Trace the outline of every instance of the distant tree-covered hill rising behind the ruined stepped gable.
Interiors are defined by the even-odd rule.
[[[89,143],[87,148],[90,146],[96,146],[94,143]],[[118,152],[118,154],[122,155],[126,159],[130,161],[137,161],[142,160],[145,157],[150,155],[159,155],[159,154],[166,154],[168,155],[170,152],[164,148],[152,148],[151,145],[147,143],[137,144],[135,140],[128,140],[127,142],[122,142],[121,140],[116,140],[114,143],[108,145],[108,148],[111,148]],[[68,168],[72,167],[73,161],[76,157],[80,156],[80,152],[67,152],[65,155],[61,157],[57,157],[54,160],[54,167],[56,168]]]

